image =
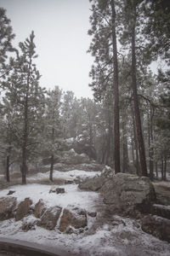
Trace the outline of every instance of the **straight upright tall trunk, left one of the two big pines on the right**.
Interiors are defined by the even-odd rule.
[[[116,10],[115,1],[111,0],[111,15],[112,15],[112,47],[113,47],[113,70],[114,70],[114,141],[115,141],[115,172],[120,170],[120,131],[119,131],[119,87],[118,87],[118,62],[117,62],[117,47],[116,47]]]

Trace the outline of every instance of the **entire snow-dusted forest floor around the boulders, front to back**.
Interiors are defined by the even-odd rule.
[[[114,215],[109,207],[103,203],[98,192],[82,191],[77,184],[61,184],[65,180],[73,180],[77,177],[93,177],[100,172],[88,172],[83,170],[72,170],[59,172],[54,171],[54,183],[65,188],[65,194],[56,195],[48,193],[53,183],[48,182],[48,172],[37,172],[27,177],[28,184],[21,185],[20,177],[14,176],[11,186],[3,186],[0,190],[0,197],[8,196],[8,190],[14,190],[14,196],[18,201],[30,197],[34,204],[43,199],[50,206],[58,205],[67,207],[74,205],[85,208],[87,211],[96,211],[97,217],[88,216],[88,230],[82,234],[64,234],[59,230],[45,230],[36,226],[36,230],[21,230],[22,221],[15,221],[14,218],[0,222],[0,238],[11,238],[15,241],[28,241],[50,248],[50,251],[57,253],[58,249],[65,252],[65,255],[96,255],[96,256],[169,256],[170,244],[167,241],[160,241],[154,236],[144,233],[141,230],[139,221],[132,218],[122,218]],[[16,184],[19,183],[19,184]],[[162,186],[169,183],[162,183]]]

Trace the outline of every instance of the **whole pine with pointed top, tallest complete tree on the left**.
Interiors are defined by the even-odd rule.
[[[15,135],[19,137],[21,148],[22,183],[26,183],[27,162],[33,154],[38,134],[39,121],[43,113],[44,93],[38,85],[40,74],[33,59],[37,57],[34,44],[34,32],[24,43],[20,43],[20,51],[14,63],[14,71],[8,77],[6,97],[13,106],[17,127]],[[37,137],[38,138],[38,137]]]

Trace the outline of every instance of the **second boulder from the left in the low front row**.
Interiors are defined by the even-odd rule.
[[[20,202],[20,204],[18,205],[18,207],[16,209],[16,215],[15,215],[16,221],[26,217],[26,215],[29,214],[31,204],[32,204],[32,201],[30,198],[25,198],[24,201]]]

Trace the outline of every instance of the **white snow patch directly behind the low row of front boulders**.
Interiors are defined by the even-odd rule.
[[[56,186],[55,186],[56,187]],[[30,197],[33,203],[37,203],[39,199],[43,199],[48,207],[74,205],[93,209],[95,201],[98,200],[99,194],[93,191],[82,191],[77,188],[76,184],[61,185],[59,188],[65,189],[65,194],[49,193],[52,189],[51,185],[44,184],[26,184],[16,185],[8,189],[0,191],[0,197],[7,196],[8,190],[14,190],[13,196],[17,197],[18,201],[23,201],[26,197]]]

